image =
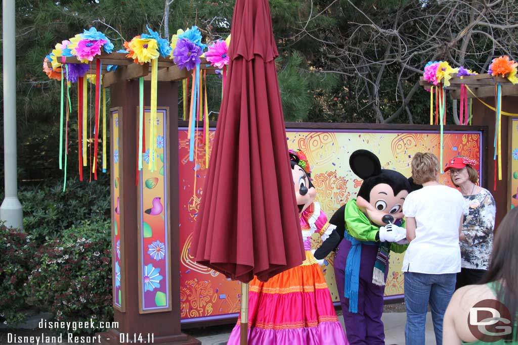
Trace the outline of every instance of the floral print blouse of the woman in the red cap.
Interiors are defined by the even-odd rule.
[[[461,241],[462,267],[487,269],[493,249],[496,204],[491,192],[482,188],[478,194],[464,196],[464,223]]]

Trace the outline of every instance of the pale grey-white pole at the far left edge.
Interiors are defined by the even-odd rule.
[[[18,200],[16,162],[16,24],[15,0],[3,0],[4,59],[4,169],[5,199],[0,206],[0,219],[7,227],[22,229],[22,205]]]

